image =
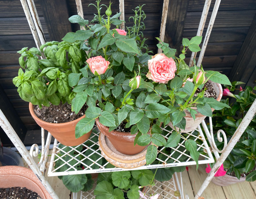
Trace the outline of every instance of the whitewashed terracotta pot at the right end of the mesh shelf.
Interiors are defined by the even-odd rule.
[[[216,92],[216,95],[217,95],[217,101],[220,101],[220,99],[222,98],[222,87],[220,84],[218,83],[215,83],[215,82],[212,82],[209,80],[209,82],[211,82],[212,86],[213,86],[213,89],[214,91]],[[196,107],[191,107],[192,109],[195,109],[195,111],[197,111],[197,108]],[[212,111],[214,111],[215,109],[211,108]],[[189,113],[189,111],[185,110],[185,114],[186,116],[185,119],[186,119],[186,127],[185,127],[185,130],[181,129],[181,132],[182,133],[188,133],[188,132],[191,132],[193,130],[195,130],[197,128],[197,126],[199,124],[201,124],[201,122],[206,118],[205,115],[202,115],[201,113],[199,113],[197,111],[197,114],[195,114],[195,121],[193,119],[193,117],[191,116],[191,113]],[[172,122],[170,122],[168,124],[171,128],[173,128],[173,125],[172,125]],[[176,127],[176,129],[178,130],[179,128]]]

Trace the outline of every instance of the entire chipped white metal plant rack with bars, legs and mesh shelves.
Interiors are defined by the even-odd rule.
[[[44,39],[44,33],[42,32],[42,26],[40,24],[40,20],[38,18],[38,14],[36,11],[36,7],[33,0],[20,0],[22,7],[24,9],[24,13],[26,14],[26,18],[28,20],[28,24],[30,26],[32,35],[34,37],[34,40],[36,42],[37,47],[39,48],[40,45],[45,43]],[[210,7],[211,0],[206,0],[205,5],[203,8],[200,24],[197,31],[197,36],[201,36],[203,33],[203,29],[205,26],[208,10]],[[78,14],[83,18],[83,10],[82,10],[82,3],[81,0],[76,0],[77,4],[77,12]],[[168,4],[169,0],[164,0],[163,3],[163,13],[162,13],[162,23],[160,28],[160,39],[164,41],[164,32],[165,32],[165,26],[166,26],[166,18],[167,18],[167,11],[168,11]],[[207,28],[206,36],[202,45],[202,50],[199,55],[199,59],[197,62],[197,65],[200,66],[205,49],[207,47],[207,43],[210,37],[210,33],[214,24],[214,20],[216,18],[216,14],[218,12],[218,7],[220,5],[220,0],[216,0],[214,4],[214,9],[212,11],[212,15],[210,18],[210,22]],[[119,0],[119,10],[122,11],[122,14],[120,16],[121,20],[124,20],[124,0]],[[121,24],[121,27],[124,27],[124,24]],[[82,27],[81,27],[82,28]],[[191,59],[190,59],[190,66],[193,62],[193,58],[195,58],[196,53],[192,53]],[[216,157],[216,163],[211,169],[210,173],[208,174],[207,178],[205,179],[203,185],[195,195],[195,199],[197,199],[205,188],[210,183],[211,179],[213,178],[214,174],[220,167],[220,165],[224,162],[228,154],[231,152],[231,150],[234,148],[236,142],[238,142],[239,138],[243,134],[245,128],[249,125],[251,120],[256,114],[256,100],[251,105],[249,111],[245,115],[243,121],[240,123],[239,127],[237,128],[236,132],[232,136],[231,140],[227,144],[226,135],[223,130],[219,130],[217,132],[217,138],[220,142],[222,142],[222,138],[220,137],[220,133],[222,133],[222,136],[224,138],[224,148],[222,150],[219,150],[213,139],[213,131],[212,131],[212,121],[211,118],[209,118],[210,121],[210,131],[207,128],[207,125],[205,122],[202,122],[203,129],[205,131],[205,134],[208,138],[208,142],[210,143],[210,147],[208,146],[204,134],[201,130],[200,125],[198,126],[198,129],[196,129],[193,132],[184,134],[186,138],[193,139],[197,142],[197,150],[203,150],[205,153],[200,154],[201,157],[203,157],[203,160],[199,160],[199,164],[206,164],[206,163],[213,163],[214,157],[212,156],[211,152],[214,153],[214,156]],[[41,158],[39,163],[37,164],[33,159],[32,156],[38,155],[38,145],[34,144],[31,149],[30,153],[26,150],[26,147],[21,142],[19,137],[17,136],[15,130],[9,123],[9,121],[6,119],[3,112],[0,110],[0,125],[3,128],[3,130],[6,132],[7,136],[10,138],[10,140],[13,142],[15,147],[18,149],[22,157],[25,159],[25,161],[28,163],[28,166],[32,169],[32,171],[36,174],[38,179],[42,182],[42,184],[45,186],[46,190],[49,192],[49,194],[52,196],[53,199],[59,199],[59,197],[56,195],[54,190],[49,185],[48,181],[46,181],[46,178],[44,177],[44,171],[46,166],[49,165],[49,171],[48,176],[58,176],[58,175],[72,175],[72,174],[82,174],[82,173],[100,173],[100,172],[109,172],[109,171],[123,171],[123,170],[134,170],[134,169],[121,169],[121,168],[109,168],[109,163],[104,163],[104,158],[100,153],[100,150],[98,149],[98,136],[99,132],[97,131],[96,127],[94,128],[94,132],[92,133],[89,140],[87,140],[85,143],[81,144],[80,146],[84,147],[84,150],[81,152],[77,150],[77,147],[67,147],[67,146],[61,146],[57,140],[54,141],[53,146],[53,153],[51,156],[50,164],[47,161],[48,153],[49,153],[49,145],[51,140],[51,134],[48,133],[46,144],[44,140],[44,129],[42,129],[42,150],[41,150]],[[163,134],[167,138],[171,133],[172,130],[168,129],[169,127],[164,127]],[[170,153],[164,153],[164,148],[159,148],[158,154],[163,154],[164,158],[157,158],[159,161],[158,164],[153,165],[145,165],[142,167],[138,167],[135,169],[152,169],[152,168],[163,168],[163,167],[174,167],[174,166],[185,166],[185,165],[194,165],[195,161],[191,159],[189,156],[189,153],[186,151],[184,147],[185,139],[181,139],[180,143],[176,148],[171,148]],[[35,149],[35,151],[34,151]],[[71,156],[70,153],[75,151],[76,155]],[[86,154],[86,151],[90,151],[90,154]],[[61,153],[62,152],[62,153]],[[222,153],[221,156],[219,156],[219,153]],[[69,160],[65,161],[65,157],[70,156]],[[78,159],[77,156],[82,156],[82,159]],[[84,160],[89,160],[89,164],[84,163]],[[59,165],[58,167],[54,168],[54,164],[57,160],[61,160],[63,163]],[[103,162],[103,163],[102,163]],[[75,165],[82,164],[84,165],[84,170],[77,170]],[[65,167],[64,167],[65,166]],[[64,171],[62,171],[62,169]],[[183,194],[183,186],[182,186],[182,176],[180,173],[180,179],[178,178],[177,173],[174,174],[175,178],[173,178],[171,181],[166,182],[158,182],[155,181],[156,186],[154,186],[154,189],[156,192],[161,194],[162,198],[178,198],[174,194],[172,194],[172,191],[179,190],[181,194],[181,198],[187,199],[187,196]],[[180,182],[179,182],[180,180]],[[175,183],[176,181],[176,183]],[[177,185],[177,186],[176,186]],[[95,186],[95,185],[94,185]],[[92,190],[88,192],[81,192],[81,193],[75,193],[73,194],[73,198],[77,198],[80,195],[80,199],[91,199],[95,198],[92,194]]]

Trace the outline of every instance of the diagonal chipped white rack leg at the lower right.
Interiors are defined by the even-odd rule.
[[[256,99],[254,100],[254,102],[251,105],[249,111],[246,113],[245,117],[243,118],[243,120],[241,121],[240,125],[236,129],[234,135],[232,136],[232,138],[228,142],[228,144],[225,147],[224,151],[222,152],[220,158],[216,161],[216,163],[212,167],[212,169],[211,169],[210,173],[208,174],[207,178],[205,179],[203,185],[201,186],[201,188],[197,192],[197,195],[195,196],[195,199],[198,199],[198,197],[201,196],[201,194],[203,193],[205,188],[209,185],[209,183],[212,180],[213,176],[218,171],[220,166],[223,164],[225,159],[228,157],[228,155],[230,154],[230,152],[232,151],[232,149],[234,148],[234,146],[236,145],[236,143],[240,139],[241,135],[243,134],[245,129],[248,127],[248,125],[252,121],[252,119],[255,116],[255,114],[256,114]]]

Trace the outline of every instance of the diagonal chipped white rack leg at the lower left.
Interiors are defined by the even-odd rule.
[[[46,190],[49,192],[51,197],[53,199],[59,199],[59,197],[56,195],[54,190],[52,189],[51,185],[48,183],[46,178],[44,177],[43,173],[38,168],[36,162],[32,159],[30,156],[28,150],[24,146],[24,144],[21,142],[20,138],[16,134],[15,130],[3,114],[2,110],[0,109],[0,126],[3,128],[7,136],[10,138],[10,140],[13,142],[14,146],[17,148],[18,152],[22,155],[30,169],[35,173],[35,175],[38,177],[38,179],[41,181],[42,185],[46,188]]]

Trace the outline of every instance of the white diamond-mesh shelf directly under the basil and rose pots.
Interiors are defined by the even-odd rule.
[[[162,127],[161,127],[162,128]],[[167,139],[172,133],[172,128],[166,126],[162,128],[162,135]],[[174,166],[195,165],[189,152],[185,149],[186,139],[193,139],[197,142],[197,150],[200,153],[199,164],[213,163],[214,159],[209,146],[205,140],[201,127],[190,133],[182,133],[183,137],[177,147],[165,148],[158,147],[158,157],[151,165],[144,165],[133,169],[122,169],[114,167],[102,156],[99,150],[98,137],[99,130],[95,126],[92,134],[86,142],[78,146],[64,146],[56,139],[53,145],[53,152],[49,164],[48,176],[75,175],[86,173],[101,173],[112,171],[127,171],[138,169],[154,169]]]

